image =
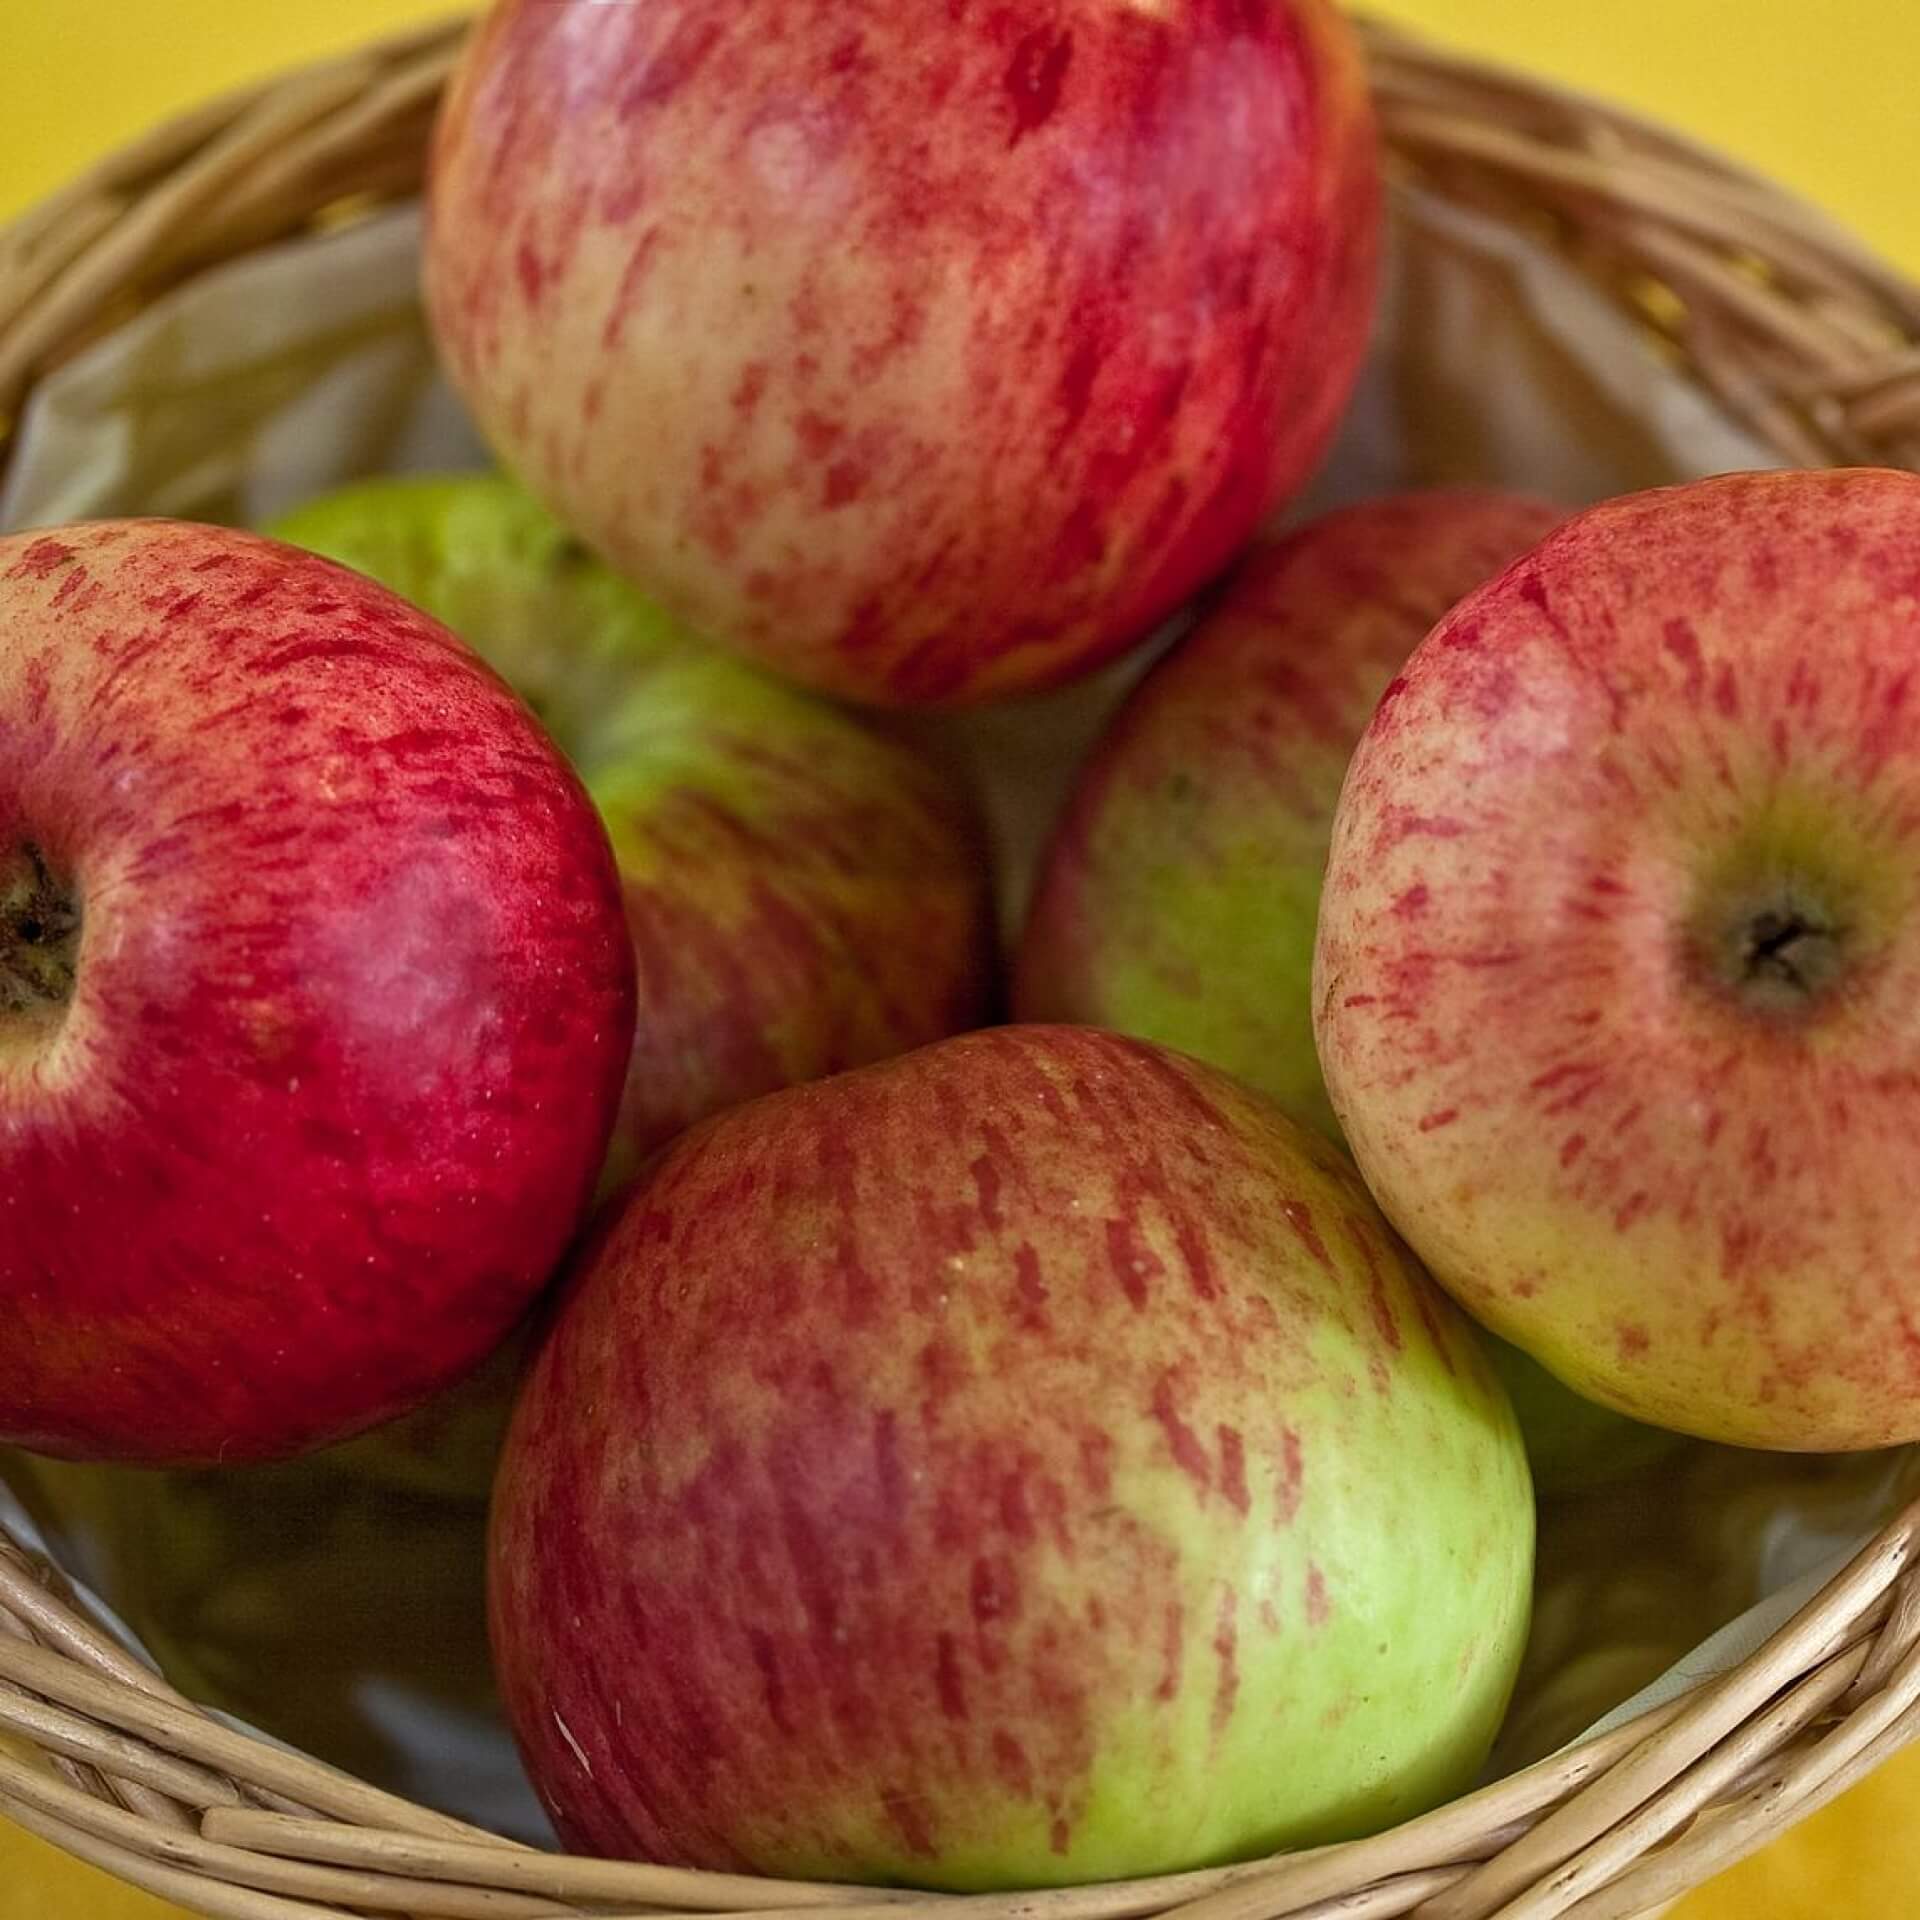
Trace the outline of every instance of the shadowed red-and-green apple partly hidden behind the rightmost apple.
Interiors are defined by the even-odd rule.
[[[1081,768],[1018,1018],[1198,1054],[1338,1139],[1311,977],[1346,762],[1427,630],[1559,518],[1513,493],[1400,493],[1248,549]]]

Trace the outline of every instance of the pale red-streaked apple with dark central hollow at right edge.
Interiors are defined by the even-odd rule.
[[[1315,1021],[1382,1208],[1622,1413],[1920,1438],[1920,478],[1580,515],[1354,756]]]

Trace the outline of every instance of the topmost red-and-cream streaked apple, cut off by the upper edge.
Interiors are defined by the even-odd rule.
[[[424,284],[503,463],[695,632],[956,705],[1142,637],[1302,484],[1379,200],[1327,0],[503,0]]]

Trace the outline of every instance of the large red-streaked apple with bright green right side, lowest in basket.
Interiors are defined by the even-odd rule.
[[[670,1146],[563,1296],[492,1530],[570,1845],[968,1889],[1461,1788],[1532,1498],[1334,1148],[1146,1043],[996,1027]]]

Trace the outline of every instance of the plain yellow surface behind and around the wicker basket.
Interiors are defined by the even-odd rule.
[[[420,0],[0,0],[0,217],[175,108],[449,12]],[[1377,12],[1655,113],[1920,273],[1920,0],[1384,0]],[[0,1920],[167,1912],[0,1826]],[[1914,1912],[1920,1759],[1908,1755],[1674,1920]]]

